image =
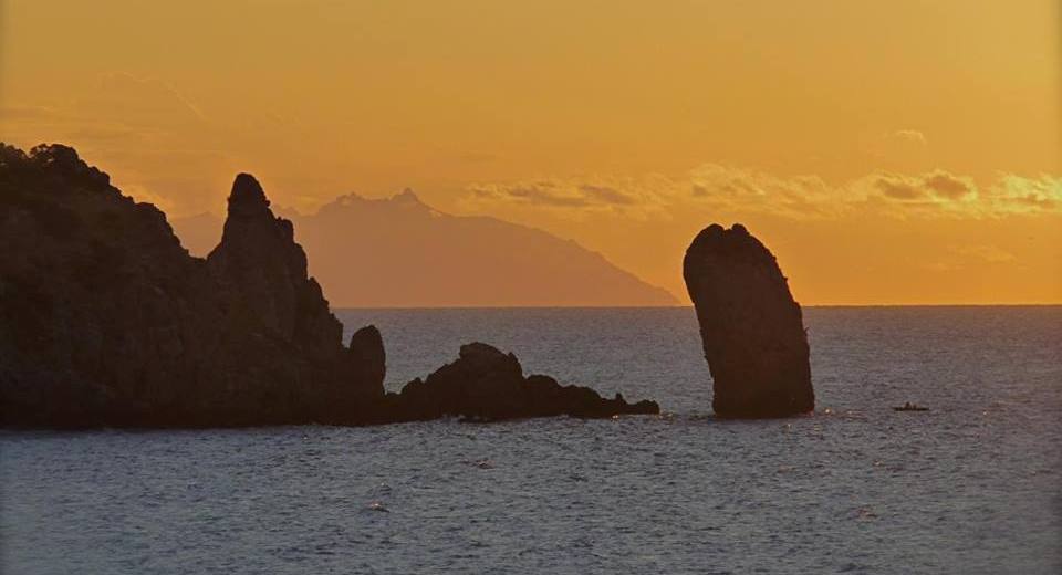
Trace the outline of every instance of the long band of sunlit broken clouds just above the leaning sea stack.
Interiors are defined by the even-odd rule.
[[[840,184],[818,176],[769,172],[705,164],[680,178],[595,176],[586,180],[539,179],[481,184],[462,201],[472,211],[522,206],[581,215],[614,211],[668,218],[680,210],[716,215],[763,213],[801,219],[841,218],[864,211],[879,217],[987,218],[1062,212],[1062,179],[1001,175],[988,186],[937,169],[925,174],[874,172]]]

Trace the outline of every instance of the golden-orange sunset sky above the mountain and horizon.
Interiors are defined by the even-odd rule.
[[[0,0],[0,139],[171,217],[410,187],[683,301],[740,221],[805,304],[1060,303],[1060,6]]]

